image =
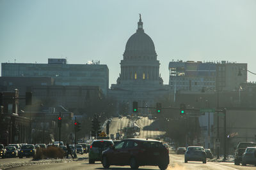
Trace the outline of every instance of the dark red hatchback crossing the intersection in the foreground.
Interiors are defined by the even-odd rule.
[[[169,163],[169,151],[161,141],[154,139],[124,139],[102,152],[104,168],[111,165],[131,166],[132,169],[138,169],[139,166],[159,166],[163,170]]]

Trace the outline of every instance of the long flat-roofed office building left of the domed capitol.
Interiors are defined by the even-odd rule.
[[[99,86],[107,94],[109,70],[105,64],[67,64],[48,59],[48,64],[2,63],[2,76],[52,77],[55,85]]]

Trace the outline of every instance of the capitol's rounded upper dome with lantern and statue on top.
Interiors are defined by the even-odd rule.
[[[156,56],[155,45],[143,30],[143,22],[138,22],[138,29],[127,41],[124,57]]]

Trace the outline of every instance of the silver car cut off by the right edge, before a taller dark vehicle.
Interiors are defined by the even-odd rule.
[[[242,165],[251,164],[256,166],[256,147],[247,147],[242,156]]]

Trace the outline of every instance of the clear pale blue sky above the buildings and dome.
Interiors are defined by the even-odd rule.
[[[243,62],[256,73],[255,9],[255,0],[0,0],[0,62],[100,60],[110,86],[141,13],[164,84],[172,60]]]

